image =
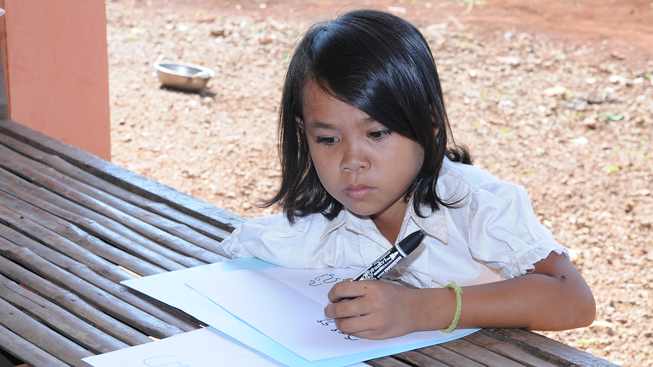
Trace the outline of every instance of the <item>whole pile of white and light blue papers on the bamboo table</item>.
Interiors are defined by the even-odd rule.
[[[128,287],[185,311],[220,332],[196,330],[84,361],[95,367],[115,366],[118,357],[112,354],[123,356],[130,353],[129,349],[142,348],[143,353],[125,357],[135,362],[120,362],[120,365],[165,365],[151,361],[138,364],[137,359],[153,358],[158,350],[154,345],[163,342],[167,345],[161,345],[160,351],[170,351],[163,355],[178,355],[171,352],[174,347],[170,345],[178,346],[185,338],[193,346],[204,345],[204,353],[193,355],[217,358],[221,366],[340,367],[447,342],[477,330],[454,330],[450,334],[416,332],[387,340],[365,340],[343,334],[323,310],[329,303],[327,293],[332,285],[357,273],[341,268],[287,269],[244,258],[123,281]],[[210,343],[215,343],[214,347],[206,346]],[[234,360],[235,355],[243,357]],[[102,360],[113,364],[102,364]],[[170,365],[207,365],[179,363],[183,364]]]

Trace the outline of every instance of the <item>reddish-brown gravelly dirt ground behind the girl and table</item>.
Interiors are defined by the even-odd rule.
[[[543,334],[653,366],[650,0],[109,1],[113,163],[246,218],[276,212],[257,204],[279,180],[288,57],[308,25],[360,6],[420,27],[454,136],[477,167],[524,185],[578,254],[596,322]],[[161,54],[216,76],[200,93],[161,88]]]

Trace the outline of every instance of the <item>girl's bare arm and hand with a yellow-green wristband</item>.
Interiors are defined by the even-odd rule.
[[[342,332],[385,339],[447,328],[456,310],[450,288],[409,289],[384,281],[343,281],[328,294],[325,308]],[[358,297],[338,302],[340,298]],[[592,291],[565,255],[550,253],[523,276],[462,287],[458,328],[566,330],[594,321]]]

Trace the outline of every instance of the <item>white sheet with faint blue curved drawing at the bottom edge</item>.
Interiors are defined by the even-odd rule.
[[[93,367],[284,366],[211,327],[82,360]]]

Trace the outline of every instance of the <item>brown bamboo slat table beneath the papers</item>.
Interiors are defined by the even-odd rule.
[[[0,367],[80,359],[200,328],[119,284],[223,261],[244,219],[9,120],[0,121]],[[484,329],[367,362],[615,366],[526,330]]]

